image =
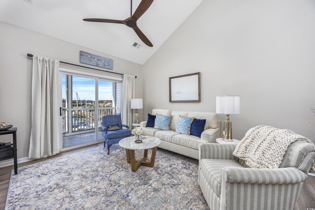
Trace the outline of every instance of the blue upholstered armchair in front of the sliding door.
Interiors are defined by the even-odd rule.
[[[119,130],[107,130],[109,125],[116,124],[118,124]],[[123,129],[123,127],[126,127],[127,129]],[[109,154],[109,148],[113,144],[117,144],[120,140],[132,136],[131,130],[128,129],[129,126],[122,124],[122,118],[120,115],[106,115],[102,117],[104,147],[107,145],[107,154]]]

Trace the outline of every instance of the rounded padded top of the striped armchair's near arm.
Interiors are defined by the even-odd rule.
[[[307,179],[307,175],[297,168],[253,169],[225,167],[222,178],[231,183],[255,184],[295,184]]]

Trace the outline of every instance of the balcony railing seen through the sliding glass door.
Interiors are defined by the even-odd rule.
[[[113,115],[115,107],[98,108],[98,118],[95,121],[95,108],[63,109],[63,134],[77,133],[102,127],[102,117]]]

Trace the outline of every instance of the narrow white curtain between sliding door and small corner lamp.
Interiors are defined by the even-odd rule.
[[[131,98],[134,98],[134,76],[124,74],[122,88],[122,121],[132,129],[132,111],[130,109]]]

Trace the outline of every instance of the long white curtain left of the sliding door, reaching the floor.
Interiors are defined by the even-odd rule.
[[[58,93],[59,61],[34,56],[29,158],[54,155],[62,148]]]

